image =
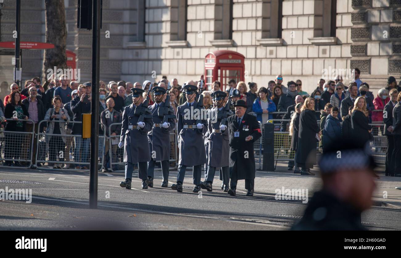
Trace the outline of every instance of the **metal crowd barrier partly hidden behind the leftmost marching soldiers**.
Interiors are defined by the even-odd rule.
[[[109,131],[111,126],[119,125],[122,126],[121,123],[112,123],[109,125]],[[176,127],[177,128],[177,125]],[[170,132],[170,167],[177,167],[178,163],[178,150],[177,150],[177,133],[176,129]],[[110,140],[109,140],[110,139]],[[125,169],[124,159],[124,148],[118,148],[120,135],[110,135],[107,137],[107,143],[109,144],[109,169],[113,172],[121,172]],[[111,151],[110,151],[111,150]],[[107,155],[107,153],[105,153]]]

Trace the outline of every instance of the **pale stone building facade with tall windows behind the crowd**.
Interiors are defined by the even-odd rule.
[[[13,2],[2,6],[1,41],[12,40]],[[91,31],[77,29],[77,0],[64,2],[67,49],[87,81]],[[22,0],[21,40],[45,40],[44,6]],[[259,87],[281,74],[311,92],[322,69],[359,68],[377,91],[401,74],[401,0],[103,0],[106,31],[104,81],[167,75],[181,84],[203,75],[205,56],[215,50],[243,54],[245,81]],[[42,58],[41,50],[23,50],[23,79],[41,74]]]

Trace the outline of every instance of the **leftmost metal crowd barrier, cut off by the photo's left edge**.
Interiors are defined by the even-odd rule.
[[[12,119],[6,121],[20,121],[22,123],[33,123],[30,119]],[[25,128],[25,126],[23,126]],[[21,167],[30,167],[32,165],[32,149],[35,137],[35,127],[32,131],[0,131],[0,161],[3,165],[11,165],[12,162],[18,162]],[[22,162],[22,163],[21,163]]]

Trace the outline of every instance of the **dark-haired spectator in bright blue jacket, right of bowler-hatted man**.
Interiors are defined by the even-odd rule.
[[[267,123],[267,120],[273,119],[273,115],[269,112],[276,111],[276,106],[271,99],[267,98],[269,92],[265,87],[261,87],[257,95],[259,97],[253,102],[252,112],[256,113],[257,121]]]

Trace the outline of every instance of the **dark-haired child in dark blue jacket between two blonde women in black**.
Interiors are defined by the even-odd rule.
[[[331,113],[327,115],[326,124],[323,129],[323,152],[330,143],[341,139],[341,125],[338,119],[338,107],[333,107]]]

